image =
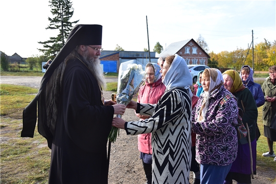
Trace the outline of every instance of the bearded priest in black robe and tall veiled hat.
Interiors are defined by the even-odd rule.
[[[125,105],[104,100],[99,56],[102,26],[77,25],[24,109],[21,136],[38,131],[52,149],[49,183],[107,183],[106,144],[113,114]]]

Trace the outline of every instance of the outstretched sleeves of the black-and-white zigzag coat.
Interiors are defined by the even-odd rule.
[[[127,134],[136,135],[142,133],[155,132],[166,126],[179,117],[182,113],[182,108],[190,108],[190,104],[185,104],[183,107],[180,94],[177,91],[166,93],[158,102],[158,104],[140,104],[140,114],[152,117],[143,121],[126,122],[125,129]]]

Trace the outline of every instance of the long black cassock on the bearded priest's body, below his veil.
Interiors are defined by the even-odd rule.
[[[62,79],[49,183],[107,183],[107,136],[113,107],[78,59],[67,62]]]

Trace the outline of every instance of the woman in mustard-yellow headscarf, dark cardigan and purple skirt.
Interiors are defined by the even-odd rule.
[[[256,122],[258,117],[258,109],[255,100],[246,88],[235,70],[227,70],[223,74],[224,87],[229,90],[238,100],[238,107],[243,110],[242,122],[246,126],[248,124],[251,150],[246,139],[239,140],[238,155],[232,164],[231,170],[227,174],[224,183],[232,183],[235,179],[238,183],[251,183],[251,166],[250,151],[252,152],[252,169],[256,174]],[[248,134],[247,134],[248,138]]]

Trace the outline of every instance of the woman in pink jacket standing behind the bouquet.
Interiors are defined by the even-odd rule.
[[[137,102],[156,104],[165,93],[166,86],[162,83],[160,74],[160,66],[156,63],[148,63],[146,65],[145,85],[139,90]],[[140,120],[150,118],[136,113]],[[146,174],[147,183],[152,182],[152,148],[151,148],[151,133],[143,133],[138,135],[138,149],[140,158],[142,159],[143,168]]]

